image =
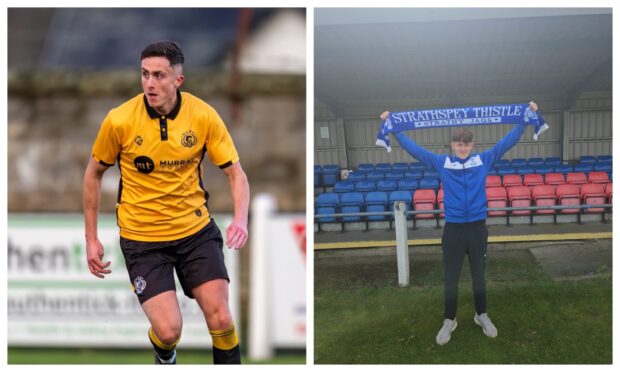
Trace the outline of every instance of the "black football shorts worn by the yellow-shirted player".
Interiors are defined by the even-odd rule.
[[[160,293],[176,291],[174,270],[189,298],[194,298],[193,288],[210,280],[230,282],[222,247],[222,234],[213,219],[197,233],[168,242],[121,237],[129,280],[140,304]]]

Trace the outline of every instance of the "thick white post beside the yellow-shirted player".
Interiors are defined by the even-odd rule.
[[[252,225],[250,246],[250,314],[249,344],[250,359],[261,360],[273,357],[272,340],[269,329],[273,329],[270,319],[271,297],[267,290],[269,281],[267,224],[276,210],[276,201],[269,194],[259,194],[252,202]]]

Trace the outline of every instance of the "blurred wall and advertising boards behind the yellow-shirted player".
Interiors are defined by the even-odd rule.
[[[116,279],[110,279],[118,281],[118,294],[110,297],[107,312],[93,305],[102,297],[81,297],[93,288],[101,290],[102,296],[113,291],[89,277],[81,261],[85,260],[81,188],[101,121],[110,109],[141,92],[140,52],[148,43],[162,39],[181,45],[186,61],[182,90],[208,102],[223,118],[252,196],[267,195],[265,215],[271,214],[273,218],[268,219],[280,231],[277,244],[270,243],[267,234],[266,241],[252,240],[244,250],[226,258],[238,279],[237,284],[231,283],[231,306],[241,324],[244,358],[250,362],[305,361],[305,21],[305,9],[8,9],[9,363],[94,363],[99,360],[96,355],[102,356],[103,363],[148,364],[152,360],[141,328],[128,325],[116,333],[110,331],[112,320],[119,315],[144,317],[135,307],[137,301],[129,298],[133,294],[112,215],[118,168],[110,168],[104,176],[100,209],[100,234],[108,241],[106,254],[113,255],[118,268]],[[224,230],[232,213],[230,188],[224,174],[205,163],[209,207]],[[255,209],[251,208],[251,214],[252,225]],[[258,245],[263,243],[270,247],[263,252],[267,257],[274,253],[289,257],[278,249],[290,254],[294,273],[267,268],[271,277],[251,280],[251,254],[262,249]],[[286,281],[295,287],[269,287],[277,285],[276,275],[294,276]],[[250,303],[257,301],[250,298],[250,283],[261,280],[269,289],[257,303],[268,309],[280,304],[289,314],[277,325],[285,329],[276,330],[265,341],[271,345],[268,350],[245,356],[251,354]],[[293,302],[281,304],[269,295],[284,292],[286,296],[285,291],[296,293],[289,295]],[[119,305],[125,302],[125,307]],[[209,362],[210,352],[200,348],[210,339],[201,338],[200,332],[208,333],[194,310],[188,308],[187,313],[190,320],[196,318],[195,342],[190,321],[184,324],[184,344],[198,350],[193,363]],[[84,328],[99,321],[104,324],[101,329]],[[104,329],[110,333],[109,340],[122,340],[123,332],[136,332],[136,341],[89,338]],[[106,338],[104,334],[99,338]],[[69,348],[67,358],[50,359],[46,349],[52,345]],[[86,360],[76,359],[81,355],[72,349],[76,345],[94,354]],[[102,349],[93,352],[96,347]],[[136,350],[126,351],[127,360],[115,358],[114,362],[105,357],[110,348]],[[58,349],[53,354],[62,355]],[[183,363],[183,357],[179,362]]]

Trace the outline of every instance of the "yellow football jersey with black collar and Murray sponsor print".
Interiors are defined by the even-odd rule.
[[[144,94],[112,109],[93,145],[93,157],[107,166],[118,161],[121,236],[170,241],[209,223],[209,194],[202,183],[205,153],[220,168],[239,161],[215,109],[189,93],[177,92],[177,105],[165,116],[149,106]]]

